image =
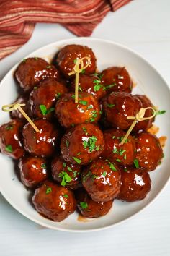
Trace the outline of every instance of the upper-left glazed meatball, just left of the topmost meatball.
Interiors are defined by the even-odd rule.
[[[48,77],[59,79],[58,70],[41,58],[24,59],[15,72],[17,82],[24,92],[31,91],[35,85]]]

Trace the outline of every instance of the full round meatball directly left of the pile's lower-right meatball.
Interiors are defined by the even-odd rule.
[[[94,161],[81,174],[86,192],[96,202],[113,200],[120,192],[120,170],[109,160]]]

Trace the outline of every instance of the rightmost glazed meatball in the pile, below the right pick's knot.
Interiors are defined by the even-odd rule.
[[[147,171],[155,170],[163,157],[163,150],[155,135],[141,132],[136,137],[136,159],[141,168]]]

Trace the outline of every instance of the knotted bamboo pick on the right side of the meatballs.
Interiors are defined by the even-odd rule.
[[[146,114],[147,109],[151,109],[153,111],[152,116],[144,117],[145,114]],[[127,116],[128,120],[134,120],[134,121],[131,124],[130,128],[128,129],[128,132],[126,133],[125,137],[122,139],[122,142],[120,142],[120,145],[125,143],[128,136],[130,135],[130,132],[132,132],[133,128],[135,127],[135,124],[137,124],[138,121],[145,121],[145,120],[148,120],[148,119],[152,119],[154,116],[156,116],[156,110],[152,107],[140,108],[140,111],[135,116]]]

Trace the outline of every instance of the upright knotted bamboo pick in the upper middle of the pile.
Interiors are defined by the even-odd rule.
[[[86,65],[84,66],[84,60],[87,61]],[[76,74],[76,81],[75,81],[75,103],[79,101],[79,73],[81,73],[84,69],[86,69],[90,64],[91,59],[86,56],[82,59],[76,59],[76,64],[73,67],[73,71],[68,73],[68,75]]]

